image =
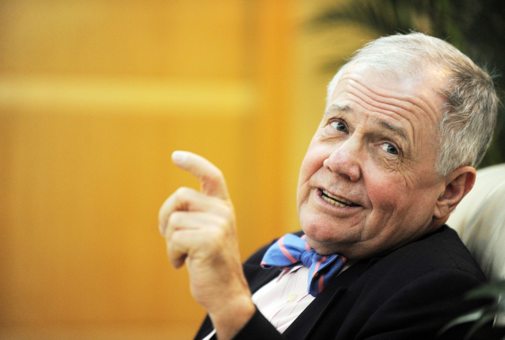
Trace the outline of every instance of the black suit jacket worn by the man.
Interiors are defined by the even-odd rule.
[[[251,292],[279,274],[260,266],[263,247],[244,263]],[[333,278],[283,334],[257,310],[236,339],[432,339],[451,319],[480,306],[464,294],[486,281],[447,226],[383,257],[361,260]],[[195,339],[212,331],[207,317]],[[462,339],[468,327],[442,338]]]

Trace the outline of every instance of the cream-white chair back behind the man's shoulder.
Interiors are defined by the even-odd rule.
[[[458,232],[490,282],[505,279],[505,164],[477,171],[474,188],[447,224]],[[495,322],[505,325],[505,317]]]

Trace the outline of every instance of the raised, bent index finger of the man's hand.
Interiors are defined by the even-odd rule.
[[[204,194],[222,199],[229,198],[221,170],[204,157],[189,151],[174,151],[172,161],[200,181],[201,192]]]

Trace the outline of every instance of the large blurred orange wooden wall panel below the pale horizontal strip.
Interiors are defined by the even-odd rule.
[[[249,158],[254,145],[240,136],[253,125],[248,116],[9,112],[1,124],[12,133],[2,150],[7,325],[199,321],[186,273],[169,266],[157,231],[166,196],[180,185],[198,185],[170,164],[171,151],[182,146],[230,175],[230,193],[242,202],[236,206],[247,240],[242,251],[259,245],[248,236],[266,224],[254,216],[265,209],[261,197],[244,181],[256,162]]]

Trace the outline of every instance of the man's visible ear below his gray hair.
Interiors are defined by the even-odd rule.
[[[456,208],[458,203],[473,188],[476,171],[473,166],[460,166],[445,179],[445,190],[438,197],[433,217],[443,219]]]

